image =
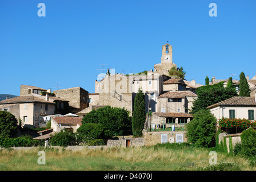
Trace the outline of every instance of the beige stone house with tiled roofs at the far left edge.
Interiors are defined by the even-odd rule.
[[[41,95],[41,92],[51,93],[51,90],[37,86],[21,85],[21,96],[9,98],[0,102],[0,110],[6,110],[22,121],[22,127],[44,127],[44,117],[53,114],[69,112],[69,101],[61,98]]]

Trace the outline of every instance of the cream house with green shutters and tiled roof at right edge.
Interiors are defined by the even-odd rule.
[[[254,95],[256,92],[254,93]],[[245,118],[254,121],[256,113],[256,97],[232,97],[225,101],[208,106],[211,113],[218,119]]]

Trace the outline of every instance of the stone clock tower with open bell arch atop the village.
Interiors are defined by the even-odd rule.
[[[162,46],[161,63],[154,65],[154,72],[169,76],[169,71],[173,67],[177,68],[177,65],[173,63],[173,46],[167,43]]]

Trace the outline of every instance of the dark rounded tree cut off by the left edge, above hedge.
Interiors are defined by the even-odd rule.
[[[0,111],[0,137],[14,137],[18,121],[8,111]]]

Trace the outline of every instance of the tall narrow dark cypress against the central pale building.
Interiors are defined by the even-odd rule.
[[[145,114],[145,96],[142,90],[139,89],[134,99],[134,111],[133,120],[131,122],[131,128],[135,137],[142,136],[142,130],[146,121]]]

